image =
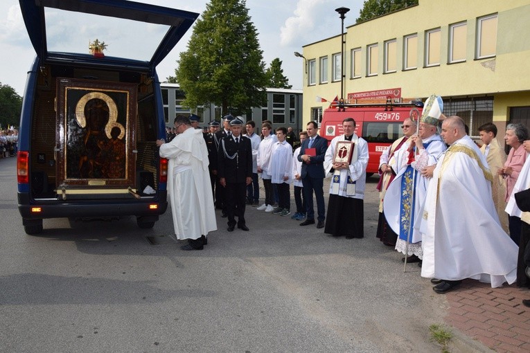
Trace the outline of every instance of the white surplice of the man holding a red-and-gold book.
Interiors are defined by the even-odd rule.
[[[330,171],[333,168],[333,157],[335,156],[335,147],[337,142],[346,141],[344,135],[336,136],[331,140],[326,155],[324,156],[324,170],[326,177],[337,177]],[[366,165],[368,165],[368,144],[363,138],[357,137],[353,134],[352,142],[355,143],[353,147],[353,158],[350,163],[350,168],[340,170],[338,175],[338,189],[336,192],[333,188],[334,180],[330,183],[330,194],[337,194],[342,197],[352,197],[353,199],[364,199],[364,189],[366,188]],[[355,192],[348,193],[348,182],[355,183]]]

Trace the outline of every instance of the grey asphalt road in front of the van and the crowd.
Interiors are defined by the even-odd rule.
[[[428,327],[445,297],[376,239],[376,177],[364,239],[247,208],[249,232],[217,211],[219,230],[188,252],[169,212],[152,230],[48,219],[25,235],[15,179],[0,159],[0,352],[441,351]],[[454,333],[452,352],[488,352]]]

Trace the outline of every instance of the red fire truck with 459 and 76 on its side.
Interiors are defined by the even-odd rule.
[[[396,102],[397,100],[397,102]],[[344,103],[337,101],[331,103],[324,110],[320,126],[320,135],[331,141],[335,136],[343,134],[342,120],[353,118],[355,120],[355,134],[364,138],[368,143],[369,161],[366,168],[366,177],[377,173],[381,153],[403,136],[401,125],[403,120],[412,114],[414,118],[421,115],[423,102],[387,98],[386,102]]]

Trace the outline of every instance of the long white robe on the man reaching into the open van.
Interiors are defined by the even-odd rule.
[[[217,229],[202,130],[186,129],[160,146],[167,158],[168,194],[177,239],[198,239]]]

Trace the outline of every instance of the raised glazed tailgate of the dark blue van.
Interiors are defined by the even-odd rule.
[[[19,0],[35,53],[44,61],[81,60],[94,64],[134,62],[154,70],[199,16],[125,0]],[[139,42],[140,35],[145,36]],[[88,44],[100,39],[113,56],[94,58]],[[156,39],[159,39],[158,41]],[[134,48],[141,46],[141,57]],[[117,53],[117,54],[115,54]],[[144,54],[145,55],[145,54]]]

